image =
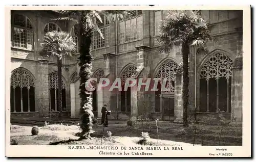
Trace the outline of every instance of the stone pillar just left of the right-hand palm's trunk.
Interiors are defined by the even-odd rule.
[[[183,64],[181,63],[175,75],[175,91],[174,91],[174,122],[183,123],[183,100],[182,100],[182,73]]]

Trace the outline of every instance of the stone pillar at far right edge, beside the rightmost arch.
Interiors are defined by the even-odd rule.
[[[242,124],[243,121],[243,57],[234,60],[231,78],[231,122]]]

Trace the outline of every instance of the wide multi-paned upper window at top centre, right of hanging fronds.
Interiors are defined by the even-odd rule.
[[[120,43],[129,42],[143,37],[143,18],[142,10],[134,12],[135,15],[119,23]]]

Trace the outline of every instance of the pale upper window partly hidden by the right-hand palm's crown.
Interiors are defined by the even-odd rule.
[[[155,36],[161,34],[160,26],[162,25],[162,19],[165,18],[168,10],[159,10],[154,12],[154,22],[155,22]]]

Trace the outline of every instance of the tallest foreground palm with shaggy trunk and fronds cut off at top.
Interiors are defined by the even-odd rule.
[[[80,57],[79,57],[79,66],[80,66],[80,111],[83,113],[80,119],[80,128],[82,132],[80,136],[90,139],[90,133],[92,131],[93,122],[92,119],[94,118],[93,115],[93,107],[92,107],[92,93],[86,89],[86,82],[91,77],[92,72],[92,55],[91,55],[91,43],[92,43],[92,32],[96,30],[99,32],[101,37],[104,39],[100,29],[97,25],[98,19],[101,23],[100,14],[107,15],[108,20],[110,22],[114,22],[117,20],[123,20],[123,15],[130,15],[129,11],[59,11],[61,14],[66,14],[67,17],[59,18],[61,20],[72,20],[77,21],[72,16],[77,16],[79,18],[79,26],[80,26]],[[122,14],[123,13],[123,14]],[[117,28],[116,28],[117,29]],[[116,33],[117,35],[117,33]]]

